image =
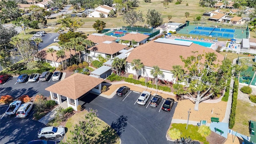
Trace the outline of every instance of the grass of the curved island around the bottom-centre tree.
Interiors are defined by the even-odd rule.
[[[75,124],[78,124],[79,121],[84,120],[85,114],[88,111],[84,110],[80,113],[74,114],[71,118],[66,122],[65,127],[68,128],[68,132],[66,133],[66,137],[70,137],[70,131],[74,129]],[[100,120],[100,119],[99,119]],[[108,124],[104,121],[100,120],[101,124],[97,126],[96,136],[92,137],[92,144],[120,144],[120,138]]]

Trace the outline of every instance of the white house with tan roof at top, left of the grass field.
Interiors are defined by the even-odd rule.
[[[89,14],[89,18],[100,18],[101,13],[104,14],[105,18],[108,18],[108,14],[109,14],[110,10],[116,11],[115,8],[112,8],[112,7],[107,6],[107,5],[98,6],[97,8],[94,9],[94,12],[91,12]]]

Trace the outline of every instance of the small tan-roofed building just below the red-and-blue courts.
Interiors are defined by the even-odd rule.
[[[135,42],[137,42],[137,44],[135,46],[139,46],[140,44],[146,43],[148,38],[149,38],[148,33],[146,35],[146,34],[141,34],[139,32],[130,32],[129,34],[126,34],[126,35],[120,37],[119,39],[122,41],[129,41],[129,43],[121,42],[121,44],[130,46],[131,42],[134,40]]]

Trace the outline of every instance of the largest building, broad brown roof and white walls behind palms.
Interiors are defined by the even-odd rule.
[[[134,59],[140,59],[144,64],[144,68],[139,71],[140,76],[145,77],[148,75],[148,77],[154,78],[150,71],[153,70],[153,66],[158,66],[163,71],[163,75],[159,79],[175,81],[173,74],[170,72],[172,66],[181,65],[184,67],[184,62],[181,61],[180,56],[184,58],[192,55],[196,56],[193,53],[196,51],[199,54],[213,52],[217,55],[218,60],[224,60],[224,56],[215,50],[194,44],[193,42],[158,38],[126,53],[126,72],[136,74],[135,70],[132,70],[131,62]]]

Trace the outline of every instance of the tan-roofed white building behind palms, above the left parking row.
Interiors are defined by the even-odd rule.
[[[52,59],[52,54],[46,53],[48,48],[53,48],[55,50],[55,52],[53,53],[54,61]],[[55,67],[55,65],[56,65],[56,67],[58,67],[59,65],[62,64],[62,62],[65,62],[65,57],[62,58],[63,61],[61,61],[61,58],[57,57],[56,52],[58,50],[60,50],[60,48],[58,46],[50,46],[50,47],[44,48],[44,49],[39,51],[40,57],[37,57],[37,58],[34,58],[34,59],[44,61],[44,62],[48,62],[51,66]],[[69,62],[70,61],[70,52],[65,51],[65,55],[66,55],[67,62]],[[73,56],[75,55],[74,50],[71,50],[71,55],[73,55]]]

